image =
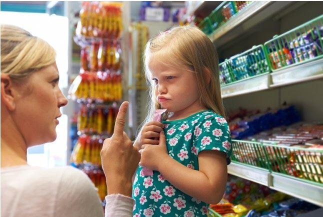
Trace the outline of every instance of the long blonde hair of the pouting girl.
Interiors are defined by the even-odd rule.
[[[143,124],[152,119],[155,109],[160,108],[150,78],[150,61],[159,61],[171,67],[186,67],[195,72],[201,105],[225,117],[218,75],[218,56],[210,39],[196,26],[174,26],[147,42],[144,65],[150,100]],[[207,70],[210,71],[209,83]]]

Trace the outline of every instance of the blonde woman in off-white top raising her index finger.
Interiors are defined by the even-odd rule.
[[[56,138],[59,107],[67,103],[58,80],[55,51],[47,42],[1,25],[1,216],[103,216],[94,185],[83,172],[27,165],[28,147]],[[121,133],[126,109],[127,102],[101,151],[109,194],[106,216],[132,211],[131,176],[140,156]]]

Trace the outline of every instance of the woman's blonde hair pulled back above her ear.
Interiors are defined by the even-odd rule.
[[[1,24],[1,73],[12,79],[27,77],[55,62],[55,50],[46,41],[14,25]]]

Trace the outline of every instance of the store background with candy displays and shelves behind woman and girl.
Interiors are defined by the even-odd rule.
[[[322,216],[322,8],[320,1],[1,1],[1,24],[55,48],[68,98],[56,140],[29,147],[28,164],[79,168],[103,207],[100,149],[118,107],[129,102],[131,140],[148,112],[146,42],[174,25],[196,25],[218,54],[232,138],[225,193],[207,215]]]

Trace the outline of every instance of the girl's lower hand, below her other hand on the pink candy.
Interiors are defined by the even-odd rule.
[[[167,153],[166,138],[164,132],[159,132],[159,143],[157,145],[143,144],[139,152],[141,153],[139,165],[148,169],[158,171],[158,166],[163,161],[163,159],[165,159],[165,157],[169,157]]]

